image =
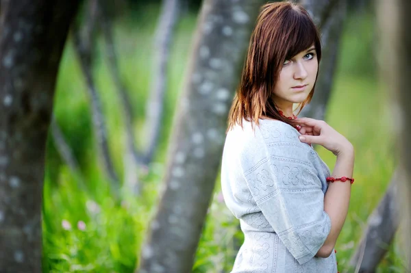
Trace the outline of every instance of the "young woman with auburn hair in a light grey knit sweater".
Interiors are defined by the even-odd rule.
[[[288,2],[262,7],[221,167],[225,203],[245,235],[232,272],[337,272],[334,246],[349,207],[353,146],[324,121],[293,114],[294,104],[301,112],[310,102],[320,60],[319,33],[306,10]],[[332,174],[312,143],[336,155]]]

